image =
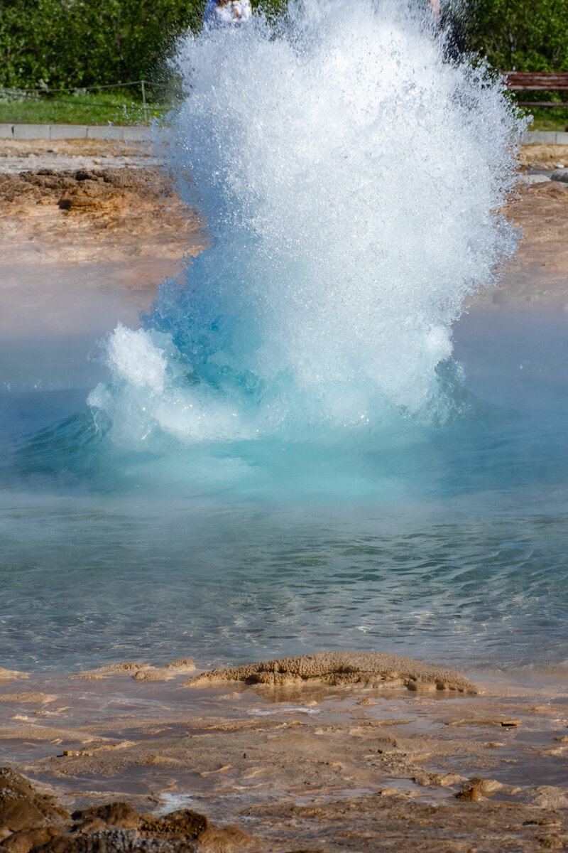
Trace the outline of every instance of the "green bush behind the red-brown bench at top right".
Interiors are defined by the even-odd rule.
[[[502,71],[568,71],[568,0],[473,0],[463,26],[468,49]]]

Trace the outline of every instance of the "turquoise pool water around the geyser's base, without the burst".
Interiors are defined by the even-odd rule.
[[[565,662],[567,325],[462,319],[468,416],[401,421],[387,446],[125,456],[94,432],[87,388],[3,392],[2,664]]]

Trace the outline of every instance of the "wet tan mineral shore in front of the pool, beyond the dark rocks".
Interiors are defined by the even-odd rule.
[[[318,679],[184,687],[198,672],[186,659],[3,680],[4,762],[68,811],[192,809],[237,827],[243,849],[360,838],[386,850],[401,832],[405,850],[568,841],[565,682],[478,695]]]

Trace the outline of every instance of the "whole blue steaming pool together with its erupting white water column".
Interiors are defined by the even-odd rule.
[[[443,54],[367,0],[181,45],[211,247],[98,385],[68,340],[39,384],[3,357],[3,665],[565,659],[566,321],[459,319],[513,252],[515,127]]]

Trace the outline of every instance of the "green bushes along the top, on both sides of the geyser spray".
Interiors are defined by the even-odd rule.
[[[161,81],[168,76],[164,60],[175,39],[188,27],[200,28],[204,4],[0,0],[0,85],[55,88]],[[285,5],[286,0],[253,0],[272,20]],[[457,10],[468,49],[492,66],[568,71],[568,0],[447,0],[446,6]]]

